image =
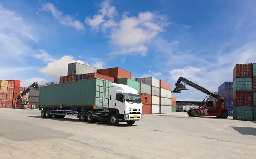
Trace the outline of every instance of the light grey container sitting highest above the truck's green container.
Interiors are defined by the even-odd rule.
[[[78,62],[68,64],[67,75],[81,75],[86,73],[97,73],[97,68]]]

